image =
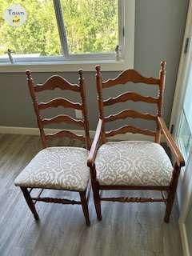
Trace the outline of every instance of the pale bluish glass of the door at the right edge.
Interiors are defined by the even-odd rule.
[[[184,113],[182,113],[181,124],[178,132],[178,142],[182,153],[187,159],[190,154],[190,150],[192,150],[192,133]]]

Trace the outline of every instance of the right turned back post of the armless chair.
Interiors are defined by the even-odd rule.
[[[83,126],[86,133],[86,148],[90,150],[91,142],[90,142],[90,127],[88,122],[88,113],[87,113],[87,105],[86,105],[86,86],[85,80],[82,77],[82,70],[78,70],[79,78],[78,78],[78,85],[80,86],[80,93],[82,96],[82,114],[83,114]]]

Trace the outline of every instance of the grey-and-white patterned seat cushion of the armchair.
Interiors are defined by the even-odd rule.
[[[158,143],[107,142],[96,158],[100,185],[169,186],[173,167]]]

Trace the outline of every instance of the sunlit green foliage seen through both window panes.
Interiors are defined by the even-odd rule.
[[[72,54],[114,51],[118,44],[118,0],[61,0],[69,51]],[[6,7],[20,3],[28,14],[20,27],[3,19]],[[51,0],[0,0],[0,55],[62,54]]]

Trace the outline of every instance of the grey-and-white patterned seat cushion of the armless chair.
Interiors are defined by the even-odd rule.
[[[90,177],[86,166],[89,151],[72,146],[41,150],[15,179],[16,186],[85,190]]]

